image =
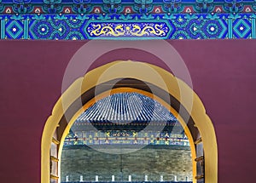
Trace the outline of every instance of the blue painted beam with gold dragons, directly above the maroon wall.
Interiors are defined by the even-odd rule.
[[[256,38],[256,14],[0,14],[1,39]]]

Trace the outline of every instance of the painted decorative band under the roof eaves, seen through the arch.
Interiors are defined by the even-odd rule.
[[[145,131],[137,133],[131,130],[109,131],[71,131],[64,146],[88,146],[88,145],[160,145],[160,146],[184,146],[189,147],[189,140],[185,134],[172,132],[156,133]]]

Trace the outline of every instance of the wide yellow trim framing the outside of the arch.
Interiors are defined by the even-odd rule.
[[[154,72],[159,78],[150,77]],[[107,74],[104,74],[107,73]],[[102,77],[103,76],[103,77]],[[197,94],[190,89],[182,80],[174,77],[172,73],[160,68],[159,66],[150,65],[143,62],[134,61],[114,61],[104,66],[89,71],[84,77],[79,77],[57,100],[52,115],[47,119],[41,144],[41,183],[49,183],[49,149],[53,134],[57,128],[61,117],[67,111],[67,108],[77,100],[81,94],[96,85],[112,81],[116,78],[135,78],[137,80],[152,83],[160,89],[165,90],[176,98],[193,118],[196,127],[201,133],[201,139],[204,144],[205,156],[205,183],[218,182],[218,148],[213,124],[207,116],[206,110]],[[79,93],[78,93],[79,91]],[[182,99],[181,92],[192,94],[192,106],[189,100]],[[63,103],[65,104],[63,106]]]

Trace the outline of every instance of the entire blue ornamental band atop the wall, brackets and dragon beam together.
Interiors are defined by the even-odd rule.
[[[1,39],[256,37],[256,0],[0,0]]]

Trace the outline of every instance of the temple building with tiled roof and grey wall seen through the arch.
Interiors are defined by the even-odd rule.
[[[151,181],[160,181],[161,176],[192,181],[191,151],[183,127],[165,107],[143,94],[113,94],[98,100],[73,123],[64,141],[62,181],[96,180],[96,176],[110,181],[112,175],[122,181],[129,175],[133,181],[144,181],[145,176]]]

